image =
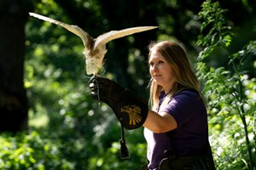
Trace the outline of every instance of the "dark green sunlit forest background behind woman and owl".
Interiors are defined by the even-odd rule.
[[[43,14],[97,37],[159,26],[108,42],[108,77],[148,98],[148,43],[186,48],[208,100],[218,170],[256,169],[256,2],[250,0],[0,0],[0,169],[139,169],[143,127],[125,130],[120,160],[113,111],[90,98],[84,47]]]

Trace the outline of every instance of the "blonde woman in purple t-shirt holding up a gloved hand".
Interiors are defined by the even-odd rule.
[[[206,103],[187,54],[176,42],[152,43],[148,65],[151,110],[137,94],[108,79],[94,79],[91,96],[110,105],[125,128],[145,127],[148,164],[142,169],[215,169]],[[124,111],[131,105],[140,111]],[[138,121],[132,124],[134,116]]]

